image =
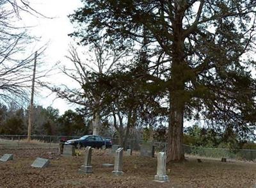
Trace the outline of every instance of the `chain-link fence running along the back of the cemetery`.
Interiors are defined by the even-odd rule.
[[[78,139],[80,136],[31,136],[30,143],[27,142],[26,135],[0,135],[0,149],[19,149],[19,148],[58,148],[59,143],[68,139]],[[111,139],[113,145],[118,145],[118,138]],[[140,151],[143,144],[154,146],[155,152],[166,152],[167,143],[156,141],[143,141],[138,139],[128,139],[126,148]],[[228,150],[224,148],[203,148],[197,146],[184,145],[184,153],[211,158],[227,158],[253,161],[256,159],[256,150]]]

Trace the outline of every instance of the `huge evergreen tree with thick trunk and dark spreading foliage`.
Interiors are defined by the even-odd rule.
[[[70,15],[81,45],[101,36],[138,46],[147,37],[148,79],[169,98],[167,161],[182,161],[184,118],[204,118],[239,136],[254,128],[255,80],[248,52],[255,35],[254,0],[83,0]],[[246,54],[246,55],[244,55]],[[244,58],[247,57],[247,58]],[[165,67],[161,74],[153,68]]]

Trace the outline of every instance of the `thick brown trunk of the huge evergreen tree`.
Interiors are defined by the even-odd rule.
[[[179,3],[176,4],[179,9]],[[179,10],[178,10],[179,11]],[[184,35],[182,29],[182,13],[176,15],[173,22],[172,68],[169,88],[170,116],[168,129],[167,162],[183,161],[183,117],[188,96],[185,83],[189,67],[184,59]]]

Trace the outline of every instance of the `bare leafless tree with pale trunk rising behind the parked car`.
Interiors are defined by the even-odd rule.
[[[51,88],[51,90],[56,92],[58,97],[65,98],[68,102],[90,108],[89,111],[92,112],[91,115],[93,116],[93,135],[99,135],[101,127],[99,110],[101,98],[97,91],[86,90],[84,85],[86,82],[90,82],[91,74],[108,74],[115,67],[115,64],[126,56],[127,51],[118,51],[115,49],[109,51],[104,41],[102,43],[94,43],[90,51],[93,51],[93,56],[90,55],[90,52],[86,52],[84,54],[86,61],[82,61],[77,49],[74,46],[70,46],[67,59],[72,62],[72,68],[61,68],[62,72],[76,81],[80,87],[70,88],[63,84],[61,87]],[[89,100],[86,100],[86,98],[92,99],[90,100],[90,104],[88,104]]]

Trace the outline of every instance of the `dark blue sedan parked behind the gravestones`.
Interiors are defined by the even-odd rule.
[[[65,142],[65,145],[73,145],[76,147],[92,146],[93,148],[106,146],[106,148],[111,148],[112,142],[110,139],[104,139],[101,136],[86,135],[79,139],[70,139]]]

